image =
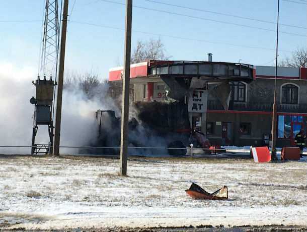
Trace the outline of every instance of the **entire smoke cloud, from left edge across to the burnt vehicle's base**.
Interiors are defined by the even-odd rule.
[[[32,141],[34,106],[29,99],[35,96],[35,86],[32,80],[36,79],[36,71],[31,67],[16,67],[13,64],[0,62],[0,146],[30,146]],[[78,80],[67,84],[63,90],[61,146],[89,146],[105,145],[119,146],[120,138],[120,109],[113,99],[106,97],[108,84],[99,84],[91,88],[90,95],[86,94]],[[95,112],[98,110],[114,110],[117,123],[103,122],[103,136],[98,140],[98,124]],[[129,118],[133,122],[135,117],[138,123],[129,131],[129,146],[135,147],[168,147],[175,140],[185,141],[176,134],[162,135],[152,130],[150,125],[144,125],[138,119],[137,110],[130,106]],[[106,138],[101,143],[101,138]],[[109,141],[109,142],[108,142]],[[39,126],[36,136],[37,144],[49,142],[48,127]],[[91,152],[90,150],[88,150]],[[77,154],[79,149],[61,148],[61,154]],[[86,149],[81,152],[87,152]],[[30,148],[3,148],[0,154],[30,154]],[[161,155],[168,150],[159,149],[130,149],[130,154]]]

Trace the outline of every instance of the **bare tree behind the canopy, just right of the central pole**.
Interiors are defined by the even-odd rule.
[[[137,41],[132,51],[131,63],[139,63],[146,60],[169,60],[170,56],[165,54],[165,47],[161,39],[150,39],[149,41]]]

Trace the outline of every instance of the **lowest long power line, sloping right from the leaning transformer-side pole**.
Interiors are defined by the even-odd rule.
[[[70,21],[70,22],[71,23],[84,24],[84,25],[90,25],[90,26],[95,26],[95,27],[102,27],[102,28],[107,28],[107,29],[114,29],[114,30],[121,30],[121,31],[125,30],[123,28],[110,27],[110,26],[105,26],[105,25],[100,25],[100,24],[93,24],[93,23],[87,23],[87,22],[79,22],[79,21]],[[205,43],[212,43],[212,44],[222,44],[222,45],[229,45],[229,46],[236,46],[236,47],[246,47],[246,48],[253,48],[253,49],[262,49],[262,50],[272,50],[272,51],[275,51],[275,49],[273,49],[273,48],[265,48],[265,47],[258,47],[258,46],[249,46],[249,45],[240,45],[240,44],[233,44],[233,43],[222,43],[222,42],[216,42],[216,41],[210,41],[210,40],[193,39],[193,38],[188,38],[188,37],[166,35],[166,34],[152,33],[152,32],[144,32],[144,31],[137,31],[137,30],[132,30],[132,31],[136,32],[136,33],[147,34],[147,35],[157,35],[157,36],[164,36],[164,37],[169,37],[169,38],[190,40],[190,41],[196,41],[196,42],[205,42]],[[280,51],[291,52],[291,51],[288,51],[288,50],[280,50]]]

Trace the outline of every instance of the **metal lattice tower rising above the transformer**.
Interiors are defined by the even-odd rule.
[[[40,75],[54,77],[58,54],[58,0],[46,0]]]

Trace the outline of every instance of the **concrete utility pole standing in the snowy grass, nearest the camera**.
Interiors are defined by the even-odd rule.
[[[121,137],[120,137],[121,176],[127,176],[131,27],[132,27],[132,0],[126,0],[123,98],[122,98],[122,109],[121,109]]]

